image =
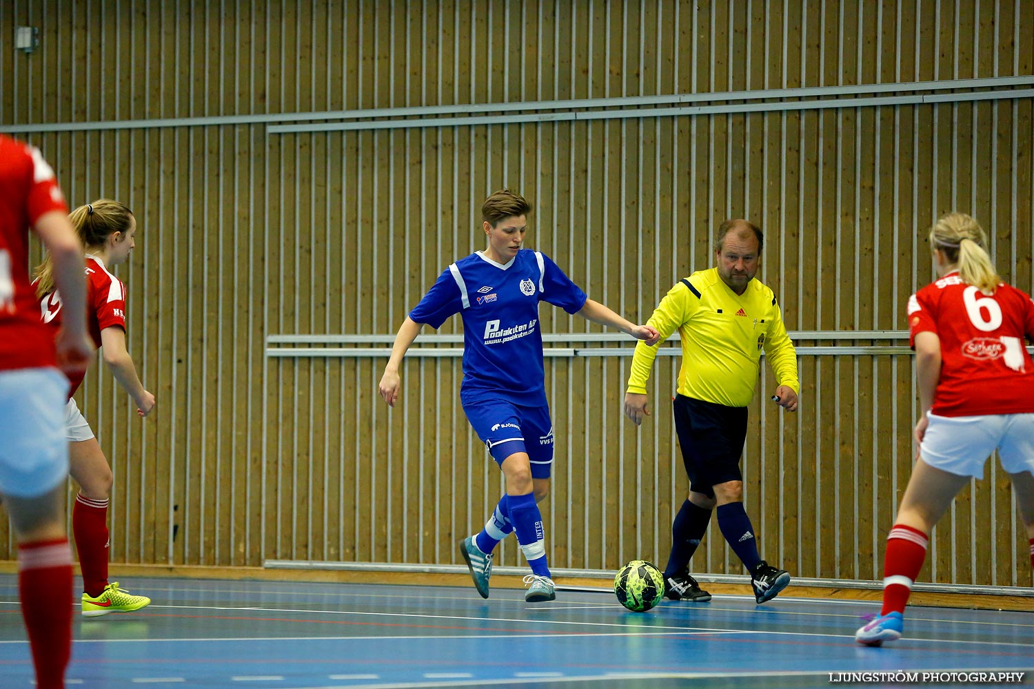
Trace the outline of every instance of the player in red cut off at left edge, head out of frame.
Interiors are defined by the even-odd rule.
[[[0,134],[0,495],[18,538],[18,584],[36,686],[64,687],[71,655],[71,552],[64,527],[68,475],[67,373],[92,354],[82,247],[54,170],[36,149]],[[29,283],[29,228],[54,261],[75,314],[54,333]]]

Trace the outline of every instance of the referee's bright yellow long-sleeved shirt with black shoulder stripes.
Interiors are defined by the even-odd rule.
[[[668,291],[646,322],[662,341],[676,330],[681,337],[679,395],[746,407],[754,397],[762,350],[779,384],[800,392],[797,354],[776,295],[757,279],[737,294],[722,282],[717,268],[697,271]],[[627,392],[646,394],[656,356],[657,346],[636,345]]]

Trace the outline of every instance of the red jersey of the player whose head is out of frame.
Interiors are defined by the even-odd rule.
[[[68,212],[54,170],[38,150],[0,134],[0,371],[57,363],[28,268],[29,228],[51,211]]]

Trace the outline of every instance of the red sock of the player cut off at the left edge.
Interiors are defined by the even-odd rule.
[[[71,657],[71,551],[68,539],[18,546],[18,588],[39,689],[63,689]]]

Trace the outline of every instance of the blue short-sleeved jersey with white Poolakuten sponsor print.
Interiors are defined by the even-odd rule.
[[[409,318],[435,330],[463,318],[463,404],[503,397],[531,407],[546,404],[539,302],[577,313],[586,299],[539,251],[521,249],[509,263],[479,251],[443,271]]]

